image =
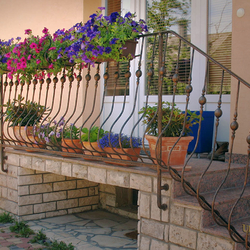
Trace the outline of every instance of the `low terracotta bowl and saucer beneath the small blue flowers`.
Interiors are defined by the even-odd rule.
[[[112,158],[112,159],[122,159],[122,160],[127,160],[127,161],[137,161],[138,160],[138,155],[140,154],[141,152],[141,148],[123,148],[123,149],[120,149],[120,148],[109,148],[109,147],[106,147],[104,148],[104,151],[107,152],[107,157],[108,158]],[[125,153],[127,155],[125,155]],[[119,155],[118,155],[119,154]],[[128,165],[126,163],[116,163],[116,162],[112,162],[112,161],[108,161],[108,160],[104,160],[104,162],[106,163],[111,163],[111,164],[115,164],[115,165],[119,165],[119,166],[131,166],[131,165]]]

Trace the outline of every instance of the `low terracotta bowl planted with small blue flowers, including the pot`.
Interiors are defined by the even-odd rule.
[[[107,157],[130,161],[137,161],[141,151],[141,144],[142,140],[138,137],[130,137],[116,133],[106,133],[99,140],[99,146],[107,153]],[[105,160],[105,162],[109,161]],[[128,166],[125,163],[116,164]]]

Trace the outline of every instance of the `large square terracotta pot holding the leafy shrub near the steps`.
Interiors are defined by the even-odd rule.
[[[156,136],[146,135],[146,139],[149,142],[149,151],[152,158],[155,157],[155,148],[157,138]],[[168,164],[168,155],[173,147],[174,143],[178,140],[179,137],[163,137],[162,138],[162,160],[164,161],[165,165]],[[175,145],[173,151],[171,152],[170,156],[170,166],[178,166],[183,165],[185,163],[188,144],[190,141],[194,139],[193,136],[186,136],[182,137],[180,141]],[[157,161],[154,160],[154,163],[157,164]]]

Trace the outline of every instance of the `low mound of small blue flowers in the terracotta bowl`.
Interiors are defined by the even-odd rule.
[[[142,144],[142,139],[138,137],[130,137],[124,134],[106,133],[99,140],[101,148],[139,148]]]

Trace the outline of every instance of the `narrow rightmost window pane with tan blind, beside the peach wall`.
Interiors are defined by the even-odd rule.
[[[208,54],[231,69],[232,48],[232,1],[209,0]],[[208,94],[220,93],[222,71],[209,64]],[[231,77],[225,74],[222,93],[230,94]]]

